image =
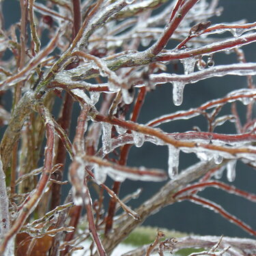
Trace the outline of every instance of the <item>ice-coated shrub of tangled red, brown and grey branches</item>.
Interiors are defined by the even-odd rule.
[[[232,182],[237,160],[255,168],[252,76],[256,63],[246,63],[241,47],[256,41],[256,23],[211,25],[208,19],[222,12],[218,0],[165,2],[48,0],[43,5],[20,0],[20,21],[9,28],[4,27],[6,14],[1,13],[1,56],[8,51],[11,55],[0,62],[0,89],[1,96],[12,91],[13,100],[11,110],[3,104],[0,109],[1,125],[7,126],[1,140],[0,255],[71,255],[89,236],[91,255],[109,255],[148,216],[183,200],[207,206],[256,236],[253,228],[221,205],[197,195],[214,186],[256,201],[253,193],[214,178],[227,168]],[[159,12],[152,14],[155,9]],[[226,38],[214,37],[223,33]],[[48,44],[42,47],[45,35]],[[176,46],[168,49],[169,41]],[[237,63],[214,66],[214,53],[225,51],[236,54]],[[177,61],[183,64],[184,74],[169,74],[167,70]],[[227,75],[246,76],[248,86],[194,109],[158,116],[147,124],[137,122],[145,97],[158,85],[172,83],[173,103],[180,105],[185,85]],[[55,119],[57,98],[61,110]],[[71,122],[74,101],[81,106],[76,124]],[[240,122],[237,101],[246,105],[245,124]],[[231,113],[221,115],[226,104],[231,104]],[[208,131],[170,134],[156,128],[198,115],[207,120]],[[237,134],[214,132],[227,121],[235,124]],[[70,139],[70,127],[75,127],[74,139]],[[126,165],[130,147],[141,147],[145,141],[168,146],[168,174]],[[199,162],[179,173],[180,150],[195,153]],[[65,170],[72,188],[61,203]],[[107,175],[114,180],[113,188],[105,184]],[[138,193],[119,199],[126,179],[158,182],[167,178],[167,184],[136,210],[126,203]],[[98,190],[94,201],[88,182]],[[104,191],[110,196],[108,211],[102,203]],[[116,216],[119,207],[124,213]],[[83,209],[87,226],[79,233]],[[208,245],[203,241],[202,237],[184,238],[184,247],[214,245],[210,238]],[[160,242],[160,255],[168,242],[175,243]],[[233,248],[216,252],[218,243],[203,255],[239,255],[238,250],[251,255],[256,250],[255,240],[251,245],[242,239],[229,245]]]

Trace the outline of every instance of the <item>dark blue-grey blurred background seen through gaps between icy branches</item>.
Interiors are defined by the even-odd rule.
[[[246,18],[248,23],[255,22],[255,0],[221,0],[219,5],[224,8],[223,14],[219,17],[211,18],[210,20],[212,21],[212,24],[235,22],[244,18]],[[3,1],[3,13],[5,14],[5,27],[9,27],[12,23],[17,22],[20,19],[19,2],[16,0]],[[256,61],[255,48],[255,44],[243,47],[246,61]],[[231,53],[230,55],[218,53],[214,55],[214,61],[215,65],[218,65],[222,63],[235,63],[237,62],[237,59],[234,53]],[[182,66],[178,66],[178,68],[180,69],[178,72],[183,72]],[[242,87],[246,87],[246,77],[241,76],[225,76],[222,78],[204,80],[193,85],[186,85],[184,89],[184,103],[181,106],[175,106],[172,102],[171,84],[158,86],[154,91],[147,94],[145,104],[143,105],[141,115],[139,117],[139,123],[145,124],[160,115],[197,107],[203,104],[203,102],[215,98],[221,98],[229,93],[229,91]],[[5,100],[5,102],[8,104],[8,100]],[[244,121],[246,109],[240,102],[238,102],[238,110],[241,114],[242,121]],[[79,104],[74,104],[74,122],[77,115],[79,115],[79,111]],[[221,113],[230,113],[230,104],[225,106]],[[202,131],[207,130],[207,123],[203,117],[195,117],[186,121],[182,120],[163,124],[160,128],[166,132],[185,132],[187,130],[192,130],[193,126],[198,126]],[[235,133],[236,130],[233,124],[227,123],[217,128],[216,132],[230,134]],[[72,130],[71,137],[73,134],[74,130]],[[141,148],[132,147],[128,158],[128,165],[151,168],[156,167],[167,170],[167,154],[168,150],[166,146],[156,147],[151,143],[145,143]],[[198,159],[195,154],[181,153],[180,170],[186,169],[186,167],[189,167],[197,161]],[[223,178],[221,180],[227,182],[226,171],[224,171]],[[236,180],[232,184],[242,190],[256,193],[255,180],[255,170],[238,161],[238,165],[236,167]],[[112,184],[110,179],[108,180],[108,184]],[[134,208],[146,199],[150,198],[163,184],[165,183],[134,182],[126,180],[122,185],[120,197],[122,198],[128,193],[134,192],[137,188],[143,188],[141,197],[139,197],[139,199],[134,199],[129,203],[129,205]],[[68,189],[69,187],[66,186],[66,190],[63,191],[63,195],[66,195],[66,191],[68,191]],[[200,195],[223,205],[225,210],[242,219],[242,221],[248,225],[251,225],[253,229],[256,229],[255,203],[251,203],[250,201],[246,201],[246,199],[242,199],[234,195],[229,195],[228,193],[217,190],[216,188],[207,188],[200,193]],[[106,199],[108,199],[108,196],[106,196]],[[166,227],[168,229],[193,232],[201,235],[220,236],[223,234],[225,236],[250,237],[248,233],[240,229],[240,227],[229,223],[229,221],[222,216],[206,208],[202,208],[199,205],[186,201],[182,203],[175,203],[174,205],[170,205],[162,209],[160,212],[150,216],[143,225]]]

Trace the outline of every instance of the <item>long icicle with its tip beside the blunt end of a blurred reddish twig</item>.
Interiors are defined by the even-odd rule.
[[[180,149],[177,149],[173,145],[168,145],[169,157],[168,157],[168,173],[169,177],[173,179],[179,170],[179,156]]]

